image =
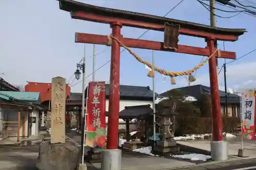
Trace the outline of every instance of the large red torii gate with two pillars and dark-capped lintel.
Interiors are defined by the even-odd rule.
[[[240,35],[243,35],[245,29],[225,29],[210,27],[193,22],[186,22],[176,19],[159,17],[154,15],[147,15],[142,13],[116,10],[110,8],[103,8],[83,4],[71,0],[58,0],[59,8],[71,13],[74,19],[81,19],[93,22],[107,23],[112,28],[112,36],[117,38],[127,47],[143,48],[158,51],[169,51],[176,53],[210,56],[209,59],[209,76],[210,89],[212,99],[212,139],[213,141],[223,141],[222,135],[222,115],[220,108],[220,95],[218,87],[218,75],[216,69],[216,58],[236,59],[236,53],[221,51],[221,53],[214,54],[217,49],[217,40],[222,41],[236,41]],[[164,42],[138,40],[132,38],[123,38],[120,31],[122,26],[142,28],[148,30],[164,31],[166,23],[172,23],[174,26],[179,26],[178,33],[181,35],[194,36],[204,38],[207,41],[207,46],[194,47],[187,45],[178,45],[164,47]],[[178,35],[177,35],[178,36]],[[178,37],[170,36],[170,41],[177,41]],[[110,36],[76,33],[75,42],[92,43],[111,45],[111,86],[110,86],[110,100],[109,100],[109,126],[108,139],[106,148],[109,150],[116,150],[118,148],[118,118],[119,118],[119,80],[120,80],[120,45],[116,40],[112,39],[110,43]],[[178,42],[178,41],[177,41]],[[220,55],[221,54],[221,55]],[[221,147],[220,147],[221,146]],[[223,151],[222,145],[219,150]],[[211,149],[216,149],[216,147]],[[218,150],[218,149],[217,149]],[[216,154],[221,154],[215,151]],[[212,151],[214,152],[214,151]],[[212,154],[212,155],[216,155]],[[225,155],[225,154],[224,154]],[[215,156],[212,156],[215,157]],[[216,156],[219,157],[219,156]],[[214,158],[213,158],[214,159]],[[216,158],[218,159],[218,158]],[[226,159],[226,158],[220,158]]]

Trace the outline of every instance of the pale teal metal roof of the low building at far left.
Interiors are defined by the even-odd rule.
[[[7,101],[41,103],[39,92],[0,91],[0,98]]]

